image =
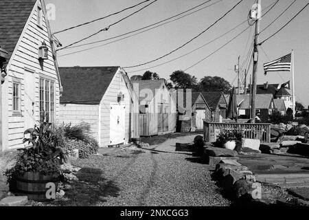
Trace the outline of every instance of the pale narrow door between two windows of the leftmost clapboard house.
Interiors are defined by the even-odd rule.
[[[33,72],[25,70],[24,75],[24,87],[25,96],[24,104],[25,109],[23,116],[25,117],[25,127],[24,129],[30,129],[36,124],[36,86],[35,86],[35,76]]]

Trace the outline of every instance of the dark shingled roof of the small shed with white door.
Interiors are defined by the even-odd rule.
[[[62,104],[100,104],[119,67],[59,67]]]

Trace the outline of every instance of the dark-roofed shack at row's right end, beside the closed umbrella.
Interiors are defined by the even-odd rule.
[[[213,112],[214,122],[227,118],[227,100],[222,91],[203,91],[202,96]]]

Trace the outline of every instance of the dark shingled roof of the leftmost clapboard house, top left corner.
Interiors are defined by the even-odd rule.
[[[36,0],[0,1],[0,46],[8,51],[8,61],[36,4]]]

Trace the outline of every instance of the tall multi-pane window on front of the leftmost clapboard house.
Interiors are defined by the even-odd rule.
[[[48,115],[49,122],[55,122],[55,83],[46,78],[40,78],[40,117]]]

